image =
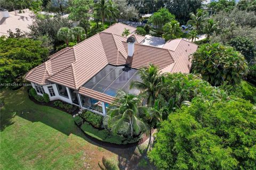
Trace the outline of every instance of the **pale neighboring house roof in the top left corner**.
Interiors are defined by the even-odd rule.
[[[16,28],[21,31],[29,32],[28,25],[32,24],[35,15],[29,9],[23,10],[25,13],[19,13],[19,10],[9,12],[9,17],[4,18],[2,14],[0,15],[0,36],[8,36],[7,31],[11,29],[16,32]]]

